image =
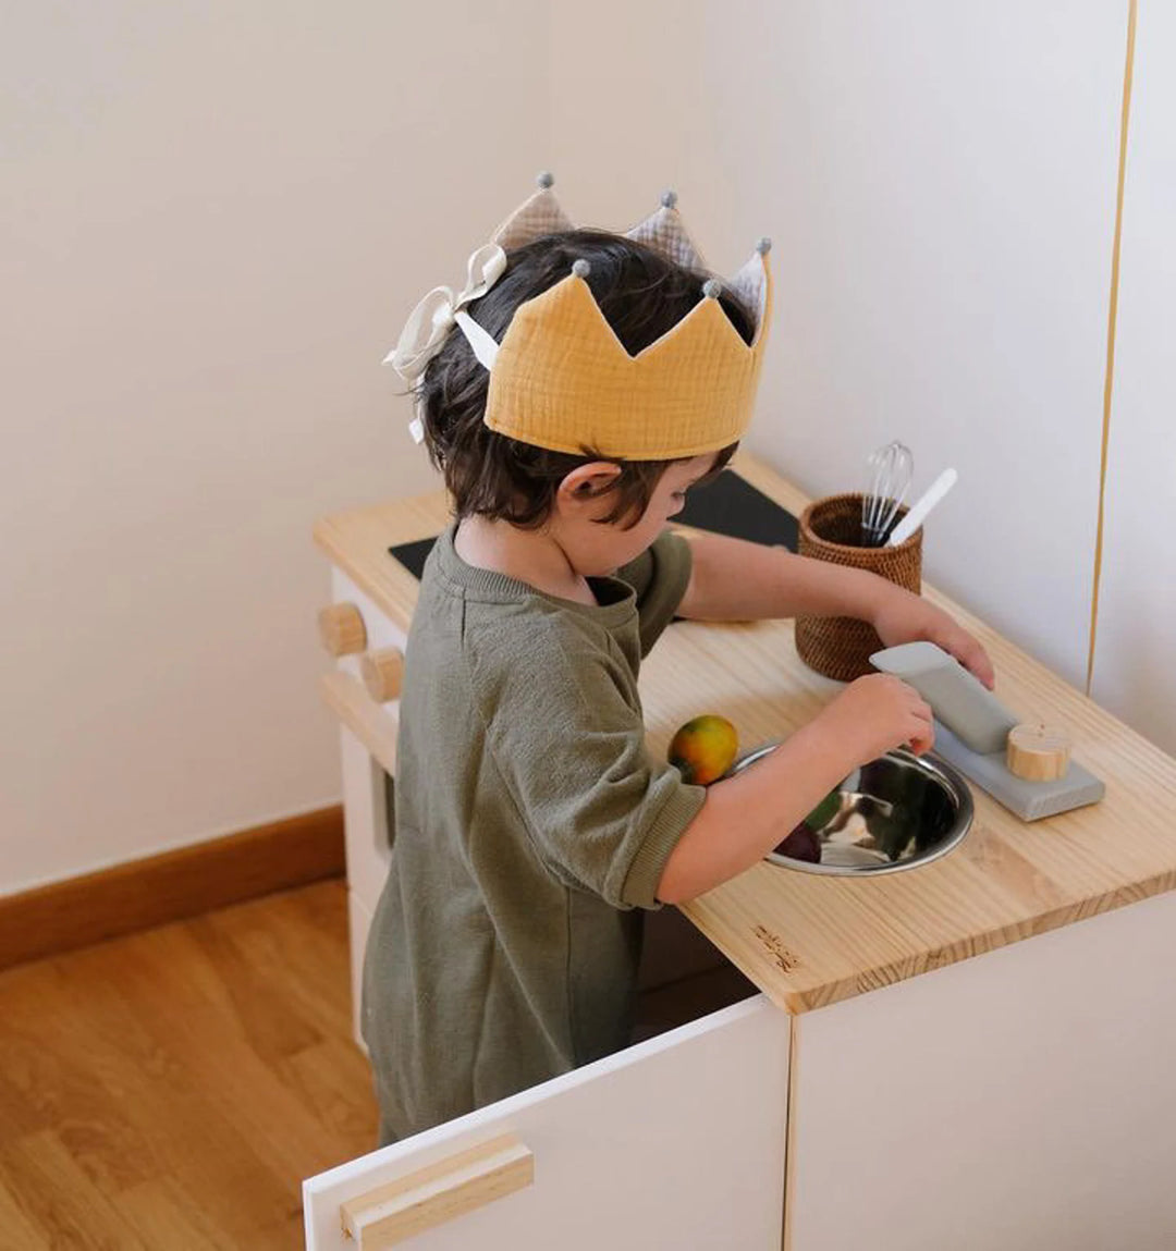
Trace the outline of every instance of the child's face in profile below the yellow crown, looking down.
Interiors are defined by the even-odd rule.
[[[686,493],[714,465],[714,453],[669,465],[653,489],[649,507],[632,529],[618,522],[601,524],[614,500],[606,490],[619,472],[608,462],[583,465],[560,484],[552,529],[575,572],[585,578],[616,573],[636,559],[662,533],[671,517],[686,505]]]

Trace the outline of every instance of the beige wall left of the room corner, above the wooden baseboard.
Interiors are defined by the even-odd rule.
[[[338,799],[310,527],[432,487],[379,362],[549,160],[544,15],[6,6],[0,892]]]

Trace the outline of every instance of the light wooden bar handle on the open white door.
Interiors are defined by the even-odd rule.
[[[382,1251],[534,1180],[534,1156],[508,1133],[349,1198],[339,1216],[359,1251]]]

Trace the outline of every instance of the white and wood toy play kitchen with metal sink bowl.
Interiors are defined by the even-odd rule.
[[[901,455],[886,464],[901,485]],[[741,453],[704,493],[677,520],[863,563],[948,608],[998,696],[861,623],[672,626],[641,677],[662,757],[707,713],[754,768],[873,668],[932,704],[935,751],[858,771],[807,846],[682,906],[761,993],[702,995],[677,1028],[308,1180],[308,1246],[1171,1245],[1176,761],[921,584],[893,477],[883,509],[869,489],[811,508]],[[315,528],[357,966],[394,846],[413,568],[445,523],[438,492]]]

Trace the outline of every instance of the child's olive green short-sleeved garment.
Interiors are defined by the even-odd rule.
[[[628,1046],[641,909],[704,798],[649,757],[637,694],[689,545],[663,534],[585,605],[465,564],[453,535],[409,632],[364,962],[382,1142]]]

